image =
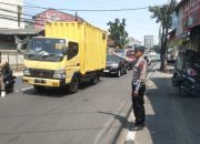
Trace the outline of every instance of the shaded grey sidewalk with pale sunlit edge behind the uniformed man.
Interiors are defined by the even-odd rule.
[[[171,85],[172,68],[151,74],[147,96],[147,127],[133,131],[133,114],[129,116],[126,144],[199,144],[200,97],[182,97]],[[128,137],[133,138],[130,141]]]

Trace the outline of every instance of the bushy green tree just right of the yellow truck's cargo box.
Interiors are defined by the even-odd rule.
[[[109,37],[114,41],[114,47],[119,47],[120,49],[123,49],[124,45],[129,42],[128,41],[128,33],[124,30],[126,28],[126,19],[122,19],[122,22],[117,18],[114,22],[108,22],[109,28]]]

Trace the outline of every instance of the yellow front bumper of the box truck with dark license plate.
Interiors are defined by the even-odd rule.
[[[66,80],[53,80],[53,79],[30,78],[30,76],[22,76],[22,82],[31,85],[43,85],[43,86],[53,86],[53,88],[66,85]]]

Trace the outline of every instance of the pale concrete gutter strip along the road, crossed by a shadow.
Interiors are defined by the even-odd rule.
[[[126,120],[128,120],[131,110],[132,110],[132,104],[130,99],[128,99],[123,104],[123,106],[120,109],[119,113],[117,113],[116,115],[120,115]],[[108,128],[104,130],[100,138],[94,144],[114,144],[126,124],[127,122],[122,122],[122,121],[119,122],[119,120],[112,117],[112,121],[109,123]]]

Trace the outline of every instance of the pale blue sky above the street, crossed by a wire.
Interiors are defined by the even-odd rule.
[[[23,0],[24,6],[39,6],[53,9],[71,10],[116,10],[116,9],[137,9],[148,8],[149,6],[161,6],[168,0]],[[38,8],[24,8],[24,13],[37,14],[41,12]],[[74,11],[63,12],[76,14]],[[116,18],[120,21],[126,19],[126,31],[129,37],[133,37],[143,44],[144,35],[153,35],[154,44],[158,43],[159,23],[151,19],[152,13],[148,9],[132,11],[79,11],[78,16],[89,23],[108,31],[109,21],[114,22]]]

